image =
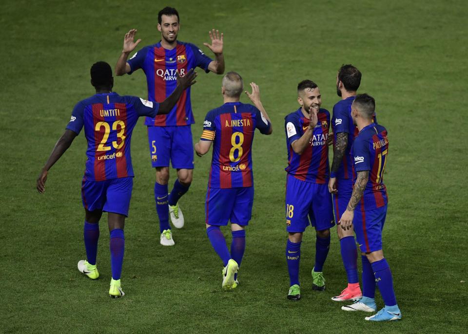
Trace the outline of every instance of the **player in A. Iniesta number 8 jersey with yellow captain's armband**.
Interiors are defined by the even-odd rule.
[[[206,154],[213,144],[213,158],[208,179],[205,203],[206,234],[223,261],[225,290],[238,285],[237,270],[245,250],[245,226],[249,224],[254,203],[254,175],[252,171],[252,144],[255,128],[262,134],[271,134],[270,118],[260,100],[260,90],[250,84],[252,94],[245,92],[251,104],[241,103],[242,77],[229,72],[223,77],[224,104],[209,111],[203,123],[203,133],[195,151]],[[233,240],[231,252],[219,226],[231,221]]]

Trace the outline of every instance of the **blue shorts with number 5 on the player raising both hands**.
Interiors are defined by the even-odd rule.
[[[194,143],[190,125],[148,127],[151,165],[194,169]]]

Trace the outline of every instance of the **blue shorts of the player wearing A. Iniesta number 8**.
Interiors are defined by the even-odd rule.
[[[205,223],[225,226],[231,223],[246,226],[252,217],[254,187],[208,188],[205,201]]]

